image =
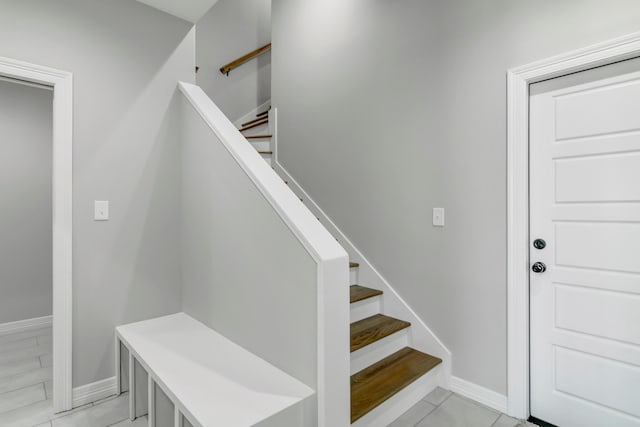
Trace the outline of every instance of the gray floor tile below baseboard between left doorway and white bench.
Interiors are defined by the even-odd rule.
[[[106,427],[123,421],[128,416],[129,396],[123,394],[83,411],[56,418],[52,425],[53,427]]]

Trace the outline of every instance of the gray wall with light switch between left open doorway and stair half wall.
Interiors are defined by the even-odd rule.
[[[131,0],[0,0],[0,56],[74,74],[73,383],[114,375],[118,324],[181,307],[178,80],[192,25]],[[93,221],[93,201],[111,219]]]

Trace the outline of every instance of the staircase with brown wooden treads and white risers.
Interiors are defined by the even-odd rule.
[[[255,117],[245,116],[239,123],[240,132],[269,165],[273,157],[270,116],[270,107],[263,107]],[[442,360],[411,348],[411,323],[381,313],[383,292],[357,284],[358,263],[350,262],[349,268],[351,423],[386,426],[435,387],[436,368]]]

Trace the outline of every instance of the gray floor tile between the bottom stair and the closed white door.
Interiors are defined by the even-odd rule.
[[[455,394],[427,415],[419,427],[491,427],[500,414]]]

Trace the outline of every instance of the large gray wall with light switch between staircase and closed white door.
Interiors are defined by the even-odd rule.
[[[449,347],[453,374],[506,393],[505,72],[640,30],[640,3],[272,8],[284,167]]]

